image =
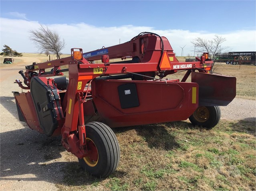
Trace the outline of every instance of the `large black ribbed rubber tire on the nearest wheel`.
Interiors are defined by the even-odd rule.
[[[117,137],[109,126],[101,122],[87,123],[85,129],[86,138],[90,139],[97,148],[98,159],[95,166],[88,165],[86,162],[88,158],[78,159],[79,163],[89,174],[107,177],[115,171],[120,160]]]

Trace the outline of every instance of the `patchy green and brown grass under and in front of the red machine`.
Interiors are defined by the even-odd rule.
[[[64,169],[60,190],[256,189],[254,122],[221,120],[212,130],[187,121],[113,130],[121,147],[117,170],[92,177],[70,154],[74,162]]]

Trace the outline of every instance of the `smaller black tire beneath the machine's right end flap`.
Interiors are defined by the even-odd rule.
[[[196,116],[198,116],[198,111],[206,110],[208,113],[208,117],[205,118],[202,121],[199,121]],[[212,129],[214,126],[218,124],[220,121],[220,107],[219,106],[200,106],[196,109],[196,111],[189,117],[189,121],[193,125],[202,126],[203,128],[206,128],[207,130]]]

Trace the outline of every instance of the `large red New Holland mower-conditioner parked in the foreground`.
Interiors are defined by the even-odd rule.
[[[236,96],[236,78],[211,74],[208,53],[196,59],[179,62],[167,38],[149,32],[87,53],[73,48],[71,57],[19,71],[24,85],[16,83],[28,91],[13,92],[18,116],[42,134],[61,134],[62,145],[86,171],[106,177],[120,158],[111,128],[187,118],[206,129],[216,126],[219,106]],[[66,71],[69,80],[62,76]],[[167,78],[178,71],[186,72],[181,80]]]

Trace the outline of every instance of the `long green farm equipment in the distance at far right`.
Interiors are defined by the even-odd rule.
[[[216,62],[225,62],[226,64],[252,64],[256,65],[255,62],[256,52],[228,52],[216,54]]]

